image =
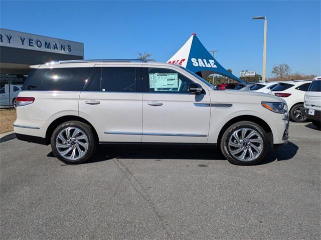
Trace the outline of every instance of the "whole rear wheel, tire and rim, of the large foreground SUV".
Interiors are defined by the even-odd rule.
[[[51,149],[55,156],[67,164],[89,160],[96,150],[93,129],[81,121],[67,121],[54,130]]]

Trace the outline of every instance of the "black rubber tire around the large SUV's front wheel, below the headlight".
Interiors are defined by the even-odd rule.
[[[250,129],[255,130],[262,139],[261,152],[257,156],[255,156],[253,158],[253,160],[249,160],[249,161],[239,160],[236,157],[234,157],[230,151],[230,147],[228,145],[230,137],[232,136],[232,134],[235,131],[242,129],[242,128],[250,128]],[[250,142],[250,144],[251,144],[251,142]],[[222,153],[227,158],[227,160],[229,162],[231,162],[232,164],[254,165],[254,164],[257,164],[258,162],[262,161],[264,159],[264,157],[266,156],[266,153],[268,150],[268,137],[267,137],[267,134],[264,131],[264,129],[261,126],[259,126],[258,124],[251,122],[251,121],[239,121],[239,122],[232,124],[230,127],[228,127],[225,130],[225,132],[221,138],[220,146],[221,146]],[[251,148],[251,150],[253,149],[252,147],[249,147],[249,148]],[[246,153],[246,154],[248,154],[248,153]]]

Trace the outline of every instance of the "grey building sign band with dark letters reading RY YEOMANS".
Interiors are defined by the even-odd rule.
[[[84,43],[0,28],[0,46],[84,56]]]

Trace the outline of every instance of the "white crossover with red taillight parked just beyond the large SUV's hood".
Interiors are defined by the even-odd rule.
[[[303,107],[304,94],[311,81],[312,80],[283,81],[279,82],[269,91],[270,94],[279,96],[286,101],[291,121],[306,121],[306,116],[303,115],[301,107]]]

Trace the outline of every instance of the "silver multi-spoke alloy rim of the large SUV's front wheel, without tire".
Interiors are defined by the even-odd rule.
[[[262,153],[263,139],[252,128],[240,128],[230,136],[228,148],[237,160],[252,161]]]

